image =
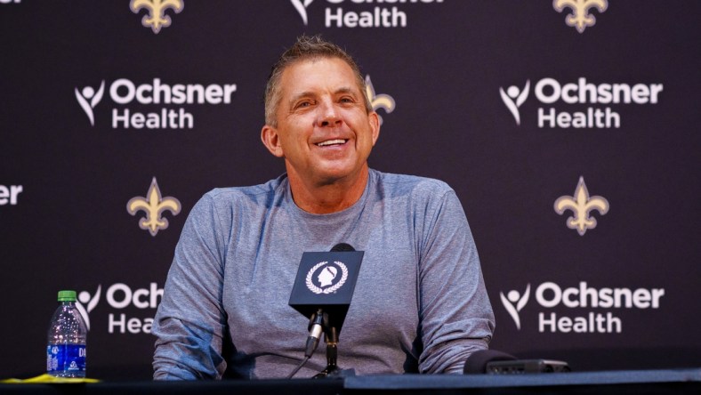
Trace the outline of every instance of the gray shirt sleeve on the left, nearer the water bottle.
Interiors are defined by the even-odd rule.
[[[158,305],[155,380],[220,379],[226,369],[222,339],[223,246],[214,202],[205,195],[189,214]]]

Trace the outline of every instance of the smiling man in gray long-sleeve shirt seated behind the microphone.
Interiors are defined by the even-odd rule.
[[[305,251],[365,251],[338,360],[359,375],[462,372],[494,314],[463,207],[442,181],[370,169],[378,116],[359,68],[302,36],[273,66],[262,142],[286,173],[214,189],[175,250],[154,378],[281,378],[303,357],[308,319],[287,305]],[[326,367],[323,352],[295,375]]]

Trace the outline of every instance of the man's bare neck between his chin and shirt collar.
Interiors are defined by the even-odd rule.
[[[363,196],[369,178],[367,165],[350,180],[327,183],[304,181],[288,173],[294,204],[311,214],[331,214],[353,206]]]

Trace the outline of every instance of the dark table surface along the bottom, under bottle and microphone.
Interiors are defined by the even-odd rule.
[[[101,382],[0,384],[0,393],[37,394],[304,394],[387,392],[424,394],[701,393],[701,367],[523,375],[360,375],[333,379],[230,380],[220,382]]]

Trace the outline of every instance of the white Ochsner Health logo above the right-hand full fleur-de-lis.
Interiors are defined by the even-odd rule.
[[[512,113],[516,125],[521,125],[523,111],[521,106],[528,100],[530,80],[520,88],[512,85],[504,91],[499,87],[499,94],[504,105]],[[662,84],[594,84],[585,77],[576,82],[560,82],[555,78],[540,79],[534,86],[533,93],[540,107],[537,109],[539,128],[618,128],[621,115],[618,111],[622,105],[657,104]]]

